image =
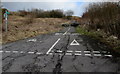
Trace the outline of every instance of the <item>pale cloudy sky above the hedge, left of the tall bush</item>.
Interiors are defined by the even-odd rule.
[[[5,8],[10,11],[21,9],[40,8],[44,10],[62,9],[64,11],[72,10],[75,16],[81,16],[85,11],[88,2],[3,2]]]

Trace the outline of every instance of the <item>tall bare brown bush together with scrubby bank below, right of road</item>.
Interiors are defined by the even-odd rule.
[[[117,2],[92,3],[81,19],[87,33],[109,44],[120,52],[120,4]],[[97,34],[96,34],[97,33]]]

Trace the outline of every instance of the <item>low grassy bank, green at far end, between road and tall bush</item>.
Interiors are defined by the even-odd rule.
[[[82,26],[76,28],[76,31],[82,35],[90,36],[91,38],[97,39],[102,43],[105,43],[110,47],[113,51],[120,54],[120,40],[115,36],[108,36],[104,31],[88,31]]]

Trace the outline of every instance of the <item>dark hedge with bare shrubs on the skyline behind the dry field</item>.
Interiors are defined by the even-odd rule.
[[[73,15],[72,10],[68,10],[64,12],[63,10],[48,10],[44,11],[42,9],[32,9],[32,10],[19,10],[16,15],[25,17],[25,16],[32,16],[34,18],[65,18],[70,19]]]

